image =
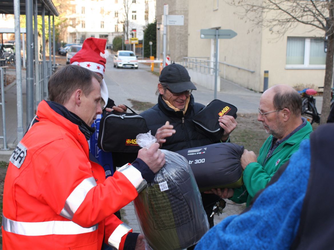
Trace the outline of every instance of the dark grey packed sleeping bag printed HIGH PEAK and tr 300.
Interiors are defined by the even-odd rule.
[[[243,146],[216,143],[176,151],[184,156],[201,192],[211,188],[238,188],[243,184],[240,158]]]

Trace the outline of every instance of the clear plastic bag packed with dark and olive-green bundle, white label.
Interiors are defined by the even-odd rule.
[[[166,163],[134,200],[137,220],[153,250],[181,250],[209,229],[201,195],[188,161],[162,150]]]

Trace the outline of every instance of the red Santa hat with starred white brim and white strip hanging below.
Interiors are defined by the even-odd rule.
[[[104,76],[106,59],[109,56],[106,44],[106,39],[87,38],[83,41],[82,48],[71,58],[70,63],[80,65]],[[108,88],[104,80],[101,82],[101,97],[105,102],[105,105],[102,107],[104,109],[108,102]]]

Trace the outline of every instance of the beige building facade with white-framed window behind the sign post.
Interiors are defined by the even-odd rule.
[[[219,39],[221,77],[260,92],[264,89],[265,71],[269,71],[268,88],[276,84],[323,86],[326,54],[321,30],[311,30],[310,26],[300,24],[278,37],[270,28],[253,27],[254,24],[235,14],[238,11],[240,9],[221,0],[191,0],[188,36],[175,39],[174,43],[179,44],[187,38],[188,57],[214,60],[214,40],[201,39],[200,30],[230,29],[237,36]],[[170,41],[170,49],[172,46]]]

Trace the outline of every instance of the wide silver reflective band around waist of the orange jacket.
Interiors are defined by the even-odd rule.
[[[6,218],[2,215],[3,230],[26,236],[42,236],[51,234],[83,234],[94,232],[98,224],[92,227],[80,227],[72,221],[43,221],[43,222],[20,222]]]

